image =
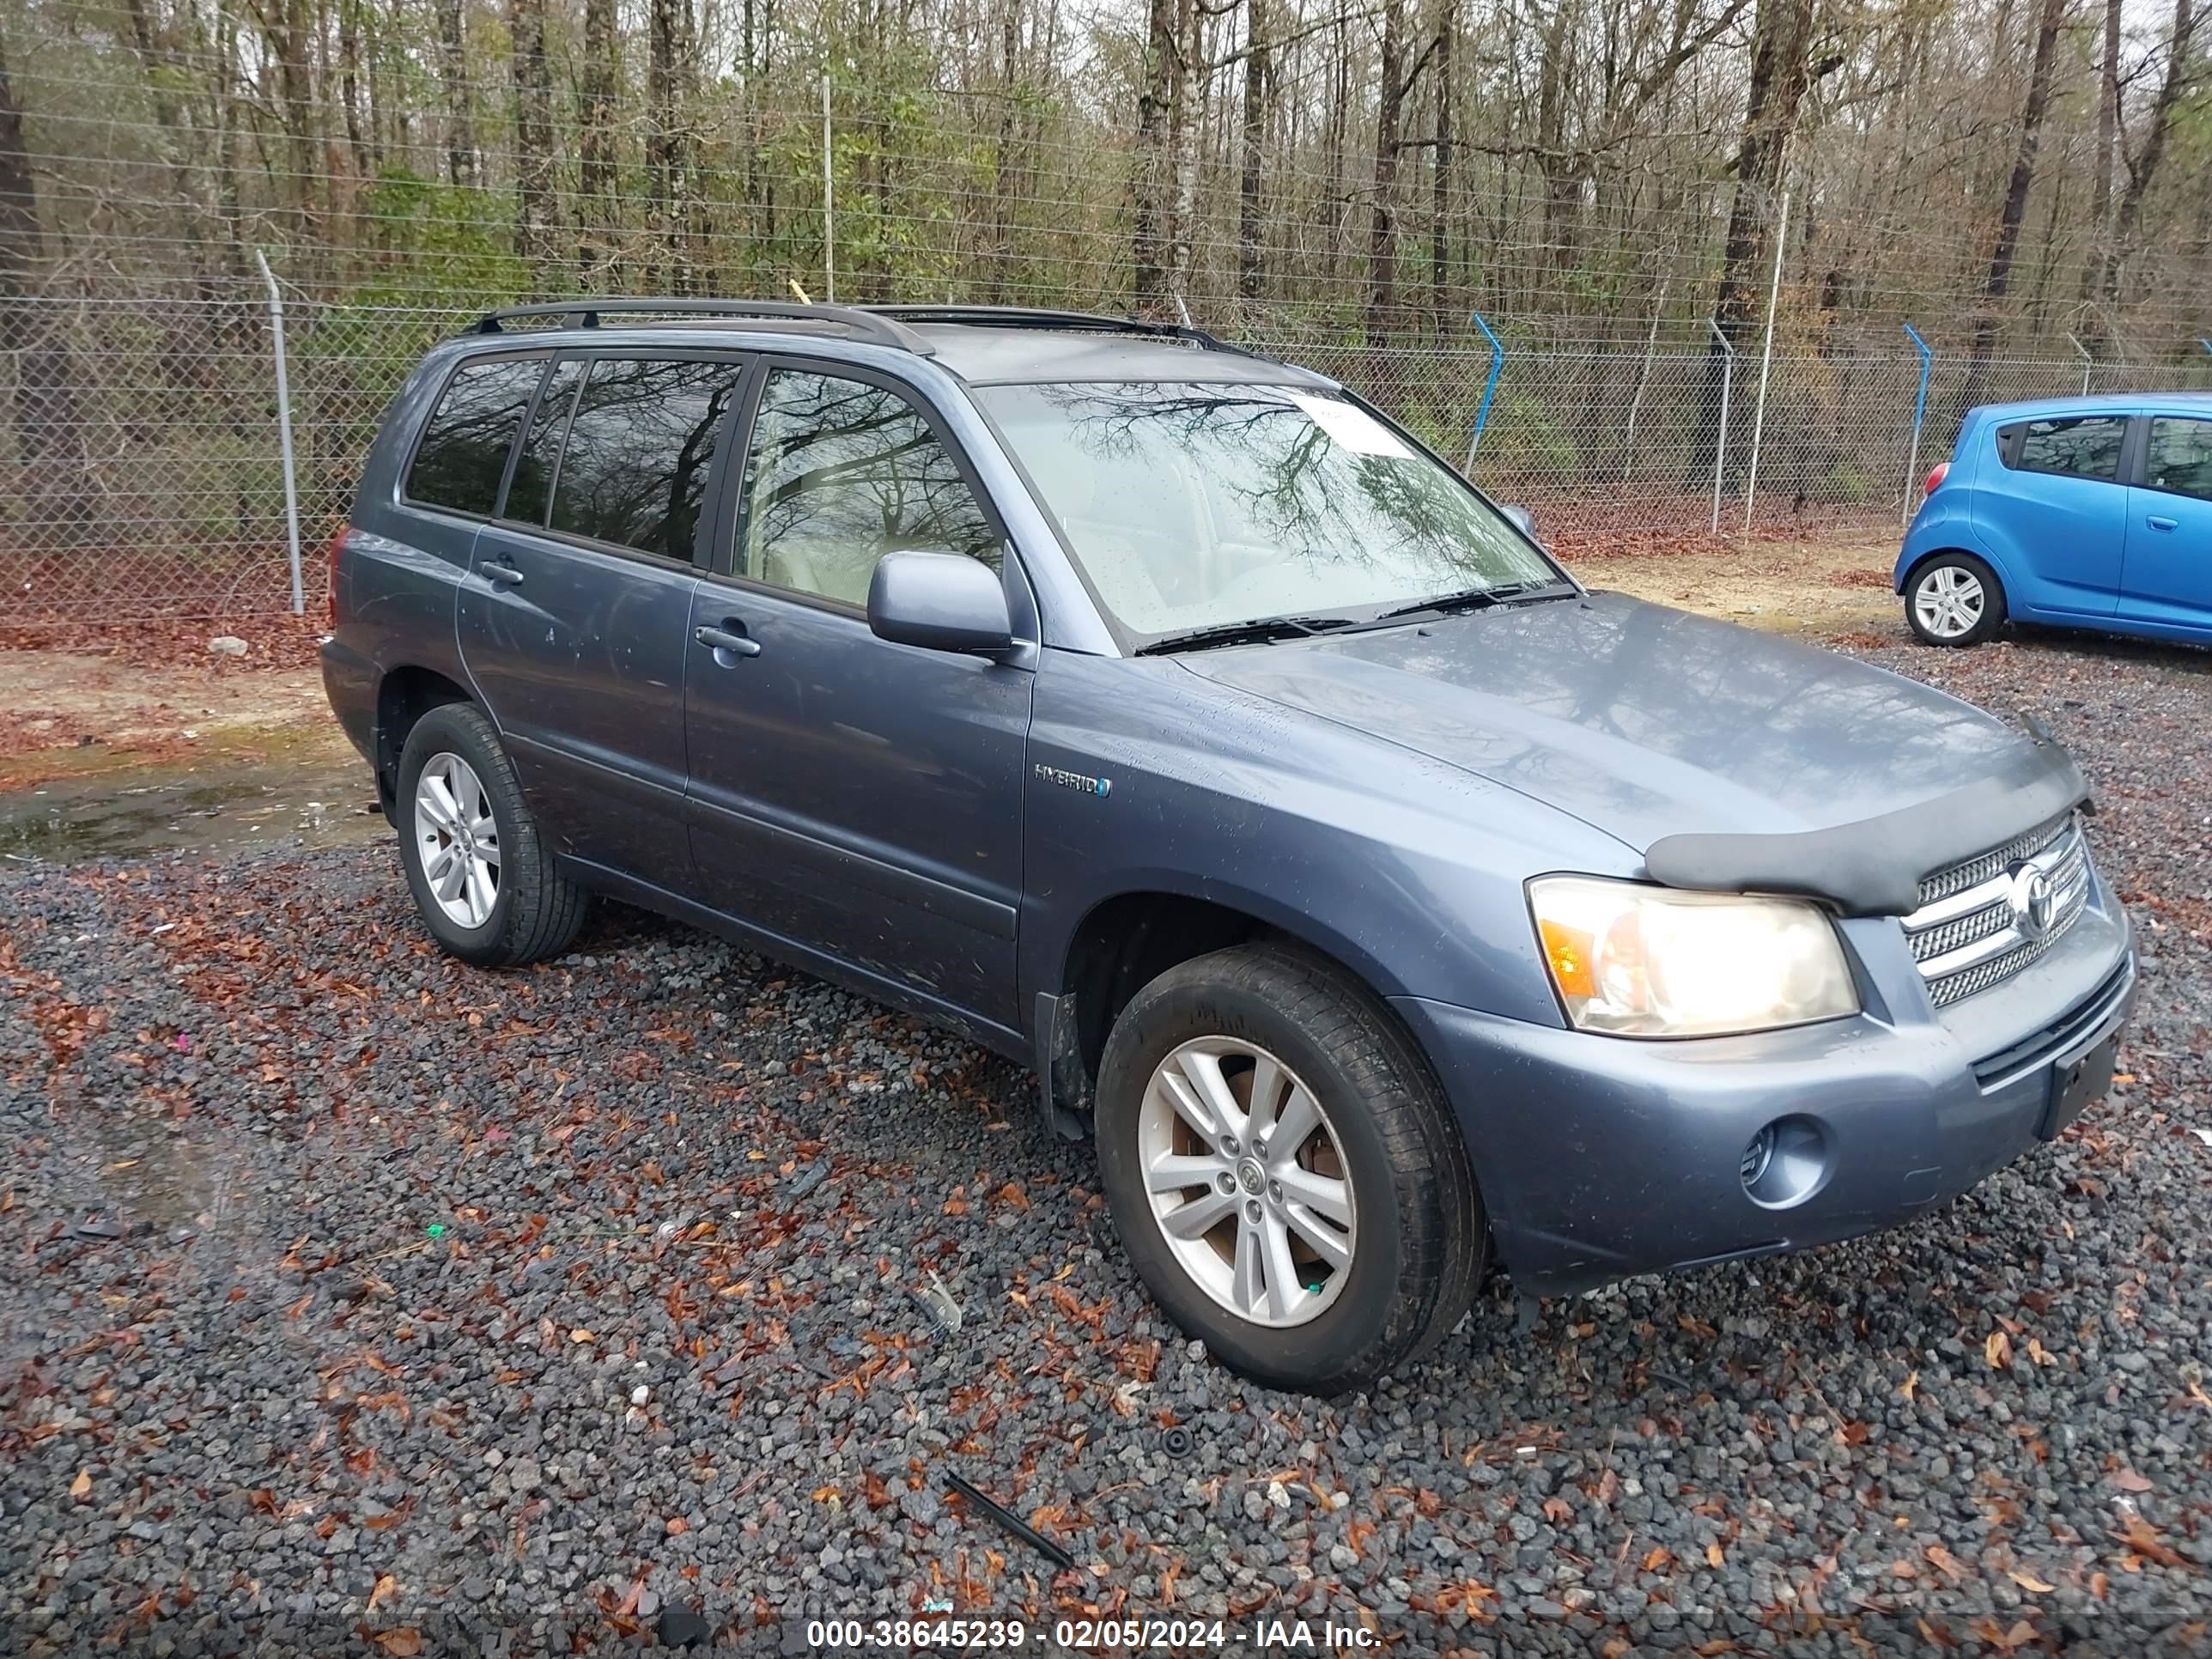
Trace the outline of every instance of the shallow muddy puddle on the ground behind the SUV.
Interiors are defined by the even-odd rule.
[[[0,856],[15,863],[349,847],[389,834],[369,768],[352,750],[126,765],[0,792]]]

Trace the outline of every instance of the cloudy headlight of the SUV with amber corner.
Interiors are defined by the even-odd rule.
[[[1816,905],[1537,876],[1528,909],[1582,1031],[1714,1037],[1858,1013],[1836,925]]]

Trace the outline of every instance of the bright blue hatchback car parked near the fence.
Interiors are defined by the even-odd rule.
[[[2006,617],[2212,641],[2212,394],[1969,411],[1893,586],[1931,646],[1978,646]]]

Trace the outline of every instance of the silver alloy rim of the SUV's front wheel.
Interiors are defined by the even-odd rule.
[[[1241,1037],[1194,1037],[1159,1062],[1137,1110],[1152,1221],[1214,1303],[1305,1325],[1352,1274],[1358,1221],[1343,1144],[1314,1091]]]

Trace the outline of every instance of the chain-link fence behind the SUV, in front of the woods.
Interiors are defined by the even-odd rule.
[[[478,316],[288,296],[285,409],[265,296],[9,305],[0,626],[33,628],[290,611],[285,416],[314,608],[321,549],[345,522],[387,400],[434,341]],[[2084,380],[2093,392],[2212,387],[2212,354],[1973,367],[1938,352],[1916,451],[1922,367],[1909,341],[1887,352],[1778,341],[1763,372],[1756,347],[1730,363],[1705,343],[1657,336],[1515,343],[1498,327],[1498,349],[1480,336],[1374,349],[1241,334],[1402,420],[1495,498],[1528,507],[1571,557],[1745,531],[1887,535],[1971,403],[2070,394]]]

